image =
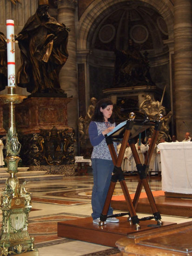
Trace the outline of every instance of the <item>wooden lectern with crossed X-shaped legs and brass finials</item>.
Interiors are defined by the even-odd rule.
[[[159,130],[160,130],[161,125],[162,125],[161,121],[163,120],[163,115],[161,115],[161,114],[159,115],[158,121],[149,121],[149,120],[143,121],[143,120],[134,120],[134,119],[135,119],[135,114],[133,112],[131,112],[129,114],[129,119],[127,121],[124,121],[124,122],[120,123],[116,128],[113,129],[112,132],[110,132],[106,135],[106,143],[108,145],[110,154],[112,156],[114,169],[113,169],[113,174],[112,174],[109,190],[108,190],[108,193],[107,193],[107,196],[106,196],[105,205],[104,205],[103,211],[100,215],[99,225],[101,225],[101,226],[104,225],[104,222],[106,221],[107,218],[117,217],[117,216],[125,216],[125,215],[128,214],[130,216],[129,220],[132,221],[132,224],[135,225],[135,228],[137,230],[139,230],[140,229],[139,218],[136,215],[135,209],[137,207],[137,204],[138,204],[138,201],[139,201],[139,196],[140,196],[140,193],[141,193],[141,190],[142,190],[143,186],[146,190],[146,195],[147,195],[148,200],[150,202],[153,216],[144,217],[140,220],[144,221],[144,220],[150,220],[150,219],[154,218],[157,221],[158,226],[160,226],[162,224],[161,216],[160,216],[160,213],[159,213],[159,211],[157,209],[157,206],[155,204],[155,200],[154,200],[154,197],[152,195],[152,191],[149,187],[149,184],[147,182],[146,175],[147,175],[147,172],[148,172],[149,163],[150,163],[151,158],[152,158],[153,149],[154,149],[155,143],[157,141]],[[140,162],[137,150],[135,148],[133,138],[136,135],[138,135],[140,132],[144,131],[146,128],[149,128],[150,126],[154,126],[154,132],[153,132],[153,135],[152,135],[152,143],[151,143],[149,151],[148,151],[148,157],[146,157],[146,161],[142,165],[141,162]],[[115,139],[121,139],[121,138],[122,138],[122,144],[121,144],[121,148],[120,148],[120,151],[119,151],[119,155],[117,156],[117,154],[115,152],[115,148],[113,146],[113,141]],[[128,191],[127,186],[126,186],[123,171],[121,169],[121,163],[123,161],[123,157],[124,157],[124,154],[125,154],[127,142],[129,142],[130,147],[132,149],[132,155],[133,155],[134,160],[136,162],[136,167],[137,167],[137,171],[138,171],[139,178],[140,178],[140,181],[138,183],[138,187],[137,187],[133,202],[131,200],[129,191]],[[111,215],[111,216],[107,216],[109,205],[110,205],[110,202],[111,202],[111,199],[112,199],[112,196],[113,196],[113,191],[115,189],[115,185],[116,185],[116,182],[118,180],[120,182],[121,189],[122,189],[123,194],[125,196],[126,204],[127,204],[128,209],[129,209],[129,213],[120,213],[120,214],[114,214],[114,215]]]

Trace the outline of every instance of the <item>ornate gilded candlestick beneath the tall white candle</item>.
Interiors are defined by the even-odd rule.
[[[10,94],[0,95],[0,99],[9,104],[9,128],[7,133],[7,178],[5,189],[0,197],[1,210],[3,214],[0,255],[22,254],[25,256],[38,256],[38,250],[34,249],[34,237],[30,237],[27,231],[27,219],[31,211],[31,193],[25,189],[26,182],[19,184],[15,174],[18,172],[18,163],[21,161],[20,142],[18,141],[15,126],[15,104],[19,104],[26,98],[14,94],[15,88],[8,88]]]

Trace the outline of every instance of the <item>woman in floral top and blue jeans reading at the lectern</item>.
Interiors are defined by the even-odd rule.
[[[105,135],[113,131],[116,126],[112,113],[113,102],[111,100],[102,99],[98,101],[95,106],[92,121],[89,125],[89,138],[93,145],[93,152],[91,156],[93,168],[92,217],[93,223],[98,225],[114,167],[112,157],[105,140]],[[116,142],[113,144],[116,150]],[[110,206],[107,215],[112,214],[113,208]],[[106,222],[119,222],[119,220],[117,218],[107,218]]]

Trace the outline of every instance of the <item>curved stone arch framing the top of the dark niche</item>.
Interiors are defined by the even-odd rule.
[[[93,1],[79,20],[79,35],[77,39],[77,50],[82,51],[90,48],[89,35],[92,34],[99,23],[105,19],[107,14],[116,10],[117,5],[124,5],[127,0],[99,0]],[[170,0],[142,0],[138,3],[155,8],[164,18],[169,39],[173,38],[173,5]]]

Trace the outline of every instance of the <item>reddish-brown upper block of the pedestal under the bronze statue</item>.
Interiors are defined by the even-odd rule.
[[[65,129],[67,104],[71,98],[28,98],[16,108],[17,127],[23,134],[40,133],[40,129]]]

